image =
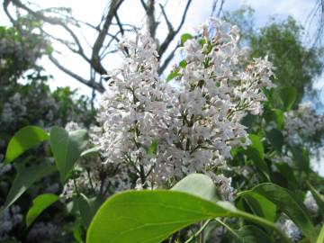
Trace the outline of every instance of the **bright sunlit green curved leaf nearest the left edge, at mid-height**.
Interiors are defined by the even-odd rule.
[[[34,147],[41,141],[49,139],[49,135],[39,127],[26,126],[18,130],[10,140],[5,153],[5,163],[12,162],[26,150]]]

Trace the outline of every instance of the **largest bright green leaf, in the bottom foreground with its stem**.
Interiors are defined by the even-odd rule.
[[[229,202],[211,202],[177,191],[127,191],[110,197],[97,211],[87,243],[156,243],[179,229],[216,217],[242,217],[284,233],[267,220],[238,211]]]

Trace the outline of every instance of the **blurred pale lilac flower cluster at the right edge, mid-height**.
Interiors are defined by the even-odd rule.
[[[284,114],[283,134],[289,143],[301,143],[324,130],[324,115],[317,114],[311,103],[301,103],[297,110]]]

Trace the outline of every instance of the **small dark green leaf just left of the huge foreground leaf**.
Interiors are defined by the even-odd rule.
[[[103,199],[98,197],[87,198],[85,194],[80,193],[80,196],[77,198],[77,207],[85,228],[88,228],[91,220],[94,218],[95,212],[98,211],[102,204]]]

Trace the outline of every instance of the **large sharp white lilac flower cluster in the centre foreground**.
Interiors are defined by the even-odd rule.
[[[238,47],[237,26],[211,19],[199,36],[179,49],[185,67],[174,68],[177,88],[158,76],[157,47],[148,35],[120,43],[127,58],[109,74],[98,116],[103,132],[94,143],[106,162],[133,166],[142,183],[226,166],[231,148],[249,144],[241,119],[262,112],[262,89],[273,87],[266,58],[243,65],[247,51]]]

